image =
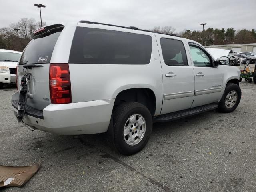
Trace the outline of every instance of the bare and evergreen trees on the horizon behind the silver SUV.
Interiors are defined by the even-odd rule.
[[[43,22],[43,26],[46,23]],[[9,49],[22,51],[30,42],[33,32],[41,27],[40,22],[36,22],[34,18],[21,18],[18,22],[10,24],[9,27],[0,28],[0,49]],[[20,30],[15,30],[20,29]],[[150,29],[154,32],[162,32],[166,34],[176,34],[183,38],[197,41],[204,46],[220,45],[220,44],[242,44],[256,43],[256,30],[234,28],[208,28],[206,30],[183,30],[176,32],[172,26],[156,26]]]

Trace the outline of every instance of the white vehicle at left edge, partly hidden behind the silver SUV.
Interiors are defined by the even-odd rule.
[[[16,83],[16,67],[22,52],[0,49],[0,89]]]

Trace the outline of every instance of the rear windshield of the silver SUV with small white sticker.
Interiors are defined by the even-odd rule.
[[[47,36],[37,36],[36,38],[33,38],[25,48],[20,58],[19,65],[49,63],[60,33],[61,32],[59,31]]]

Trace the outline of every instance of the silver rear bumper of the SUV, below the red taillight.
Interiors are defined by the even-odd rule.
[[[12,106],[17,115],[17,101]],[[32,128],[59,134],[80,135],[106,132],[110,123],[114,99],[50,104],[42,111],[26,106],[23,122]]]

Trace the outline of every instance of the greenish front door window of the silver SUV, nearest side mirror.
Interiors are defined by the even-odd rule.
[[[190,52],[195,67],[212,67],[210,57],[197,46],[190,45]]]

